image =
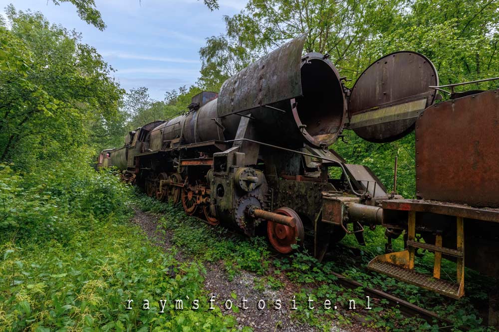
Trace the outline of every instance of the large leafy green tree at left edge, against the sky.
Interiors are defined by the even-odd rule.
[[[9,6],[6,13],[11,28],[0,26],[1,160],[19,167],[50,161],[120,121],[123,91],[93,47],[39,12]]]

